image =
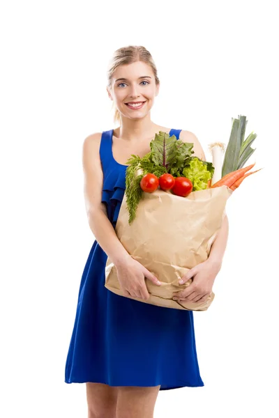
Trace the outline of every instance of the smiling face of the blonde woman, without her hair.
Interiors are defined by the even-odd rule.
[[[119,65],[112,77],[112,87],[108,90],[116,108],[126,118],[143,118],[153,106],[159,86],[156,86],[151,67],[137,61]],[[130,109],[129,102],[144,102],[140,109]]]

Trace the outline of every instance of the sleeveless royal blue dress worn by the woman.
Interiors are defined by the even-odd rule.
[[[181,130],[172,129],[179,139]],[[116,226],[125,192],[126,165],[112,155],[113,130],[103,132],[102,202]],[[65,382],[111,386],[158,386],[160,390],[204,386],[199,375],[193,311],[158,307],[105,288],[107,254],[95,240],[77,299],[66,359]]]

